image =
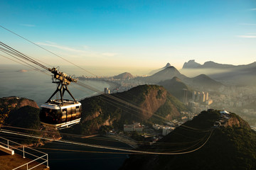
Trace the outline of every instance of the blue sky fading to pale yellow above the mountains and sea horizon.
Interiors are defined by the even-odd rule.
[[[256,61],[255,0],[1,0],[0,25],[90,67],[164,67]],[[1,42],[68,64],[0,28]],[[0,64],[14,62],[0,56]]]

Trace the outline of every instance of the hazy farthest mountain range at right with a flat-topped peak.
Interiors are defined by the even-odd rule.
[[[256,84],[256,62],[235,66],[211,61],[198,64],[195,60],[190,60],[183,64],[180,71],[188,77],[206,74],[211,79],[228,85],[255,86]]]

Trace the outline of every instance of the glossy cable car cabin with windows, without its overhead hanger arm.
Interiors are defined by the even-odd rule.
[[[44,125],[56,129],[68,128],[71,125],[80,123],[82,105],[79,102],[64,100],[51,100],[41,105],[40,120]]]

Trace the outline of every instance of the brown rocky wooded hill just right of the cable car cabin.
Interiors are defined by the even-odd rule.
[[[132,103],[138,108],[133,108],[125,103],[119,103],[105,95],[93,96],[80,101],[82,103],[81,125],[74,132],[91,134],[97,132],[104,125],[116,125],[122,129],[124,124],[136,122],[154,122],[158,118],[153,115],[161,115],[166,119],[179,118],[180,111],[187,110],[186,106],[162,86],[141,85],[129,91],[117,94],[109,94],[114,98],[121,98],[125,102]],[[114,101],[114,105],[110,104]]]

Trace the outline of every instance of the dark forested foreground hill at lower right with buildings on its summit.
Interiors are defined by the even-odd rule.
[[[203,111],[154,145],[139,148],[184,154],[131,154],[120,169],[256,169],[256,132],[235,113],[228,116],[213,128],[220,112]]]

